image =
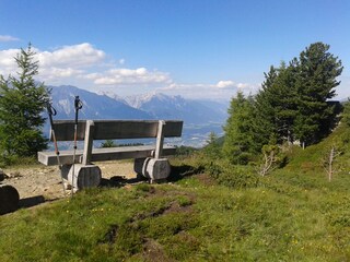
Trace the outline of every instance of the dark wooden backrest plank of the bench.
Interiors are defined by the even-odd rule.
[[[164,138],[182,136],[183,121],[166,120],[163,126]],[[94,120],[93,140],[117,139],[152,139],[158,136],[158,120]],[[54,121],[57,141],[74,140],[74,121]],[[85,140],[86,120],[80,120],[77,129],[77,140]],[[52,139],[52,138],[51,138]]]

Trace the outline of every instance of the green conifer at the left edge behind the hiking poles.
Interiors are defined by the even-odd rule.
[[[42,112],[49,92],[44,83],[37,83],[38,61],[31,44],[14,58],[19,67],[18,78],[0,78],[0,150],[2,155],[35,156],[46,148],[42,128],[45,118]]]

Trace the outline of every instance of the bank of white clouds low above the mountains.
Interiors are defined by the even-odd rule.
[[[3,38],[4,39],[4,38]],[[10,38],[9,38],[10,39]],[[1,36],[0,36],[1,40]],[[168,72],[138,67],[125,67],[125,58],[107,59],[105,51],[89,43],[63,46],[55,50],[39,50],[35,59],[39,61],[38,80],[47,85],[71,84],[93,92],[109,92],[121,96],[148,92],[163,92],[188,98],[230,98],[236,91],[252,93],[257,85],[220,80],[217,84],[176,83]],[[15,74],[14,57],[20,49],[0,50],[0,74]]]

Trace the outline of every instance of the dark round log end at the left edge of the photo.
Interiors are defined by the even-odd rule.
[[[18,190],[9,184],[0,184],[0,215],[19,209],[20,194]]]

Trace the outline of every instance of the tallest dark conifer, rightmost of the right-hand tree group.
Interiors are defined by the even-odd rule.
[[[329,134],[335,124],[336,108],[327,103],[332,98],[342,72],[341,61],[329,51],[329,45],[315,43],[300,53],[295,83],[299,114],[294,131],[304,144],[313,144]]]

